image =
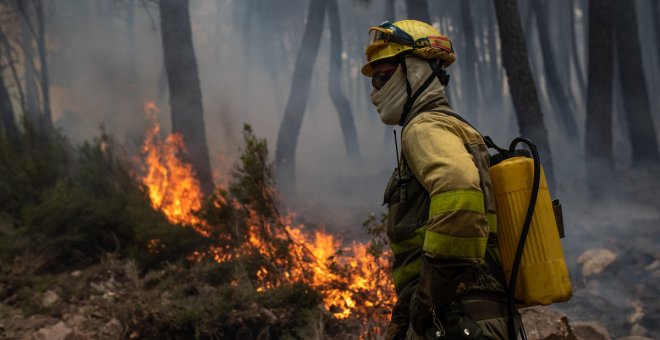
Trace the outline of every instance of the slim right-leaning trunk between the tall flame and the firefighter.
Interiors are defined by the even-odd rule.
[[[284,117],[277,136],[277,149],[275,150],[277,179],[285,191],[293,189],[298,135],[300,134],[300,126],[302,125],[305,106],[309,97],[314,61],[321,44],[324,18],[325,0],[310,0],[305,33],[296,57],[291,91],[284,109]]]

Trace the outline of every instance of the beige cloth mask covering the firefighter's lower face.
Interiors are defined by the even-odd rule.
[[[371,102],[376,106],[380,120],[387,125],[399,124],[407,99],[406,78],[400,66],[380,90],[371,93]]]

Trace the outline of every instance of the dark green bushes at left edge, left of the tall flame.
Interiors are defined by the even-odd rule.
[[[0,137],[0,271],[57,272],[106,252],[150,265],[190,254],[202,237],[151,208],[120,151],[103,129],[78,147],[27,122],[18,142]],[[158,253],[147,250],[152,239]]]

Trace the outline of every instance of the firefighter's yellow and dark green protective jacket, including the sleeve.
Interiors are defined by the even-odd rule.
[[[398,295],[388,338],[449,333],[457,323],[476,327],[475,339],[506,338],[488,164],[481,135],[431,83],[405,119],[401,162],[385,190]]]

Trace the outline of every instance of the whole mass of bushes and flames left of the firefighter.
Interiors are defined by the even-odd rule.
[[[231,180],[205,199],[180,137],[160,134],[154,123],[137,158],[103,132],[81,146],[29,124],[15,141],[0,135],[0,325],[75,314],[116,318],[123,337],[384,332],[394,292],[382,220],[365,222],[371,245],[296,224],[249,127]],[[41,295],[59,299],[44,307]]]

